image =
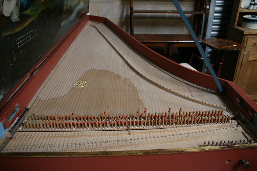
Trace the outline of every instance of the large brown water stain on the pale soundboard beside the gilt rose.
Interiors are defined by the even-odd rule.
[[[69,114],[74,110],[79,114],[101,114],[107,109],[108,114],[116,115],[136,113],[138,108],[145,109],[130,79],[123,79],[107,70],[89,70],[79,80],[87,82],[87,86],[78,88],[71,83],[72,88],[67,94],[53,99],[37,99],[30,111]],[[61,89],[61,85],[58,89]]]

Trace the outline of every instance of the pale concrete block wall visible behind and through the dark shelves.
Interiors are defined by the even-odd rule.
[[[195,9],[195,0],[178,0],[185,11]],[[134,0],[134,9],[176,10],[172,0]],[[90,15],[106,17],[129,32],[129,0],[90,0]],[[193,24],[194,15],[186,15]],[[179,14],[134,14],[134,33],[188,34]]]

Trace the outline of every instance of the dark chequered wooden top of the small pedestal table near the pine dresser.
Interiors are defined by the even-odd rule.
[[[208,38],[203,41],[207,46],[211,46],[212,48],[218,50],[232,50],[232,51],[241,51],[244,48],[244,45],[240,43],[233,42],[227,39],[221,38]]]

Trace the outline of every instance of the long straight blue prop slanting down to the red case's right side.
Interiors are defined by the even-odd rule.
[[[178,10],[178,13],[179,13],[180,17],[184,21],[184,23],[186,25],[186,28],[188,29],[189,33],[191,34],[191,36],[192,36],[192,38],[193,38],[193,40],[194,40],[194,42],[195,42],[195,44],[196,44],[200,54],[202,55],[202,58],[204,59],[204,62],[206,64],[207,68],[209,69],[210,73],[212,74],[212,78],[214,79],[216,85],[218,86],[218,89],[219,89],[221,95],[224,95],[225,92],[224,92],[220,82],[218,81],[218,78],[217,78],[217,76],[216,76],[216,74],[215,74],[215,72],[214,72],[214,70],[213,70],[213,68],[212,68],[212,66],[211,66],[211,64],[210,64],[206,54],[204,53],[204,50],[203,50],[203,48],[202,48],[198,38],[196,37],[196,35],[195,35],[191,25],[189,24],[189,22],[188,22],[188,20],[186,18],[186,15],[184,14],[183,10],[181,9],[178,1],[177,0],[172,0],[172,1],[173,1],[174,5],[175,5],[176,9]]]

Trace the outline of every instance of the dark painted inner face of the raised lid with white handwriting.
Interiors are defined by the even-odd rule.
[[[17,19],[15,7],[12,13],[6,10],[11,1],[16,0],[3,1],[0,16],[0,102],[88,12],[89,5],[88,0],[20,0],[15,6]]]

